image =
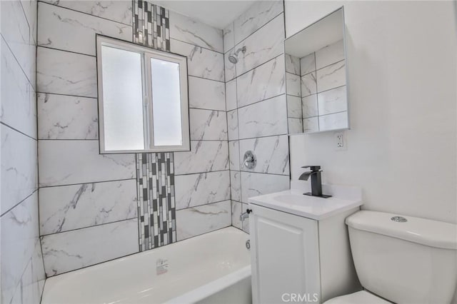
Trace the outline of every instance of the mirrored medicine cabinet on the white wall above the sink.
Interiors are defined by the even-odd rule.
[[[288,133],[349,128],[344,9],[285,40]]]

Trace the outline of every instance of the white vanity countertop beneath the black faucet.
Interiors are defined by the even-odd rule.
[[[359,198],[318,198],[316,196],[305,196],[303,195],[304,192],[306,191],[286,190],[263,196],[254,196],[249,198],[248,201],[254,205],[292,213],[296,216],[303,216],[317,221],[363,204],[361,196]]]

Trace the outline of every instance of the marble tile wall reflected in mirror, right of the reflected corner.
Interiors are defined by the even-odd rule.
[[[343,40],[300,59],[304,132],[347,127],[345,64]]]

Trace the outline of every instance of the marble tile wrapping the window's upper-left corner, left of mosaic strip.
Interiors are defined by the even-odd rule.
[[[39,3],[38,45],[95,56],[95,35],[131,41],[129,25]],[[70,38],[71,37],[71,38]]]

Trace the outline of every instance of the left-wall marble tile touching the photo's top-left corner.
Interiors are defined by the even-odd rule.
[[[0,20],[1,36],[34,86],[36,47],[21,1],[0,1]]]

